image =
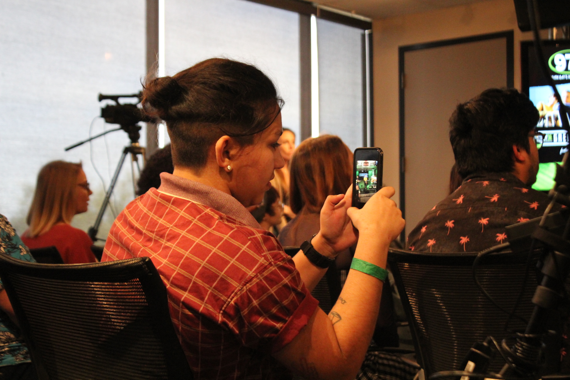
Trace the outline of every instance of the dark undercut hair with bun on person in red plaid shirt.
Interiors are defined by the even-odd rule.
[[[148,80],[143,109],[166,122],[174,166],[201,169],[222,136],[254,143],[283,107],[275,85],[257,67],[211,58],[174,76]]]

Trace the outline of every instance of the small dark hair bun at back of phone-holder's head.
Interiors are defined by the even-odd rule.
[[[143,108],[149,116],[168,119],[170,108],[180,103],[185,93],[186,89],[172,76],[153,79],[144,88]],[[154,110],[149,110],[148,105]]]

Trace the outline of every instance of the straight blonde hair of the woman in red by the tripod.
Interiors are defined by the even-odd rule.
[[[39,171],[34,199],[26,222],[27,236],[35,238],[56,223],[71,223],[76,211],[76,187],[81,163],[52,161]]]

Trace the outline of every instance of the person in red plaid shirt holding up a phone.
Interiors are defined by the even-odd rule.
[[[389,243],[404,227],[386,197],[394,190],[382,189],[361,210],[349,207],[351,191],[328,197],[313,250],[286,255],[246,210],[284,165],[282,104],[264,73],[229,59],[145,85],[143,107],[166,122],[174,172],[125,207],[103,260],[152,259],[196,378],[291,378],[294,371],[353,379],[372,337],[378,277],[351,269],[345,301],[329,316],[310,291],[323,267],[356,243],[353,226],[355,258],[385,267]]]

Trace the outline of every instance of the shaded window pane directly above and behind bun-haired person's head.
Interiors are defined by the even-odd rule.
[[[213,57],[266,73],[285,100],[283,126],[299,138],[298,13],[245,0],[166,1],[166,75]]]

